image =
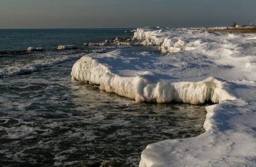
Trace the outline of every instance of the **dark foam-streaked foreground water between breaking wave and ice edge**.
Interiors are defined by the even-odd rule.
[[[204,106],[135,103],[95,85],[71,82],[71,66],[56,76],[65,65],[1,80],[4,166],[105,160],[136,166],[148,144],[203,133]]]

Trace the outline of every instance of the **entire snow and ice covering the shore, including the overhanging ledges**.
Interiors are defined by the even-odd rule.
[[[150,144],[139,166],[255,166],[255,34],[145,27],[133,38],[166,54],[88,54],[72,79],[137,102],[216,103],[206,107],[205,133]]]

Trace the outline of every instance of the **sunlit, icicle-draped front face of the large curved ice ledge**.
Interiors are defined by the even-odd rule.
[[[155,72],[133,71],[133,74],[127,72],[129,75],[121,76],[114,73],[111,68],[122,68],[121,66],[126,64],[121,62],[123,60],[120,59],[115,67],[106,64],[106,60],[104,60],[104,58],[109,61],[115,59],[117,54],[123,53],[114,51],[112,56],[110,56],[111,53],[83,56],[73,65],[72,80],[100,85],[102,90],[135,99],[137,102],[170,103],[176,101],[200,104],[207,101],[219,103],[226,99],[234,99],[223,89],[226,87],[226,83],[214,77],[200,82],[168,82],[158,80],[163,76]]]

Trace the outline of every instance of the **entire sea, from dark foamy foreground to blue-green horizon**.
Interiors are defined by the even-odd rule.
[[[204,132],[205,105],[135,103],[71,80],[73,64],[92,52],[158,52],[84,46],[132,30],[0,30],[0,166],[138,166],[148,144]]]

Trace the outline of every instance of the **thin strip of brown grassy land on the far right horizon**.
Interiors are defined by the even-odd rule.
[[[246,33],[256,34],[256,27],[210,27],[205,28],[202,32],[227,32],[227,33]]]

